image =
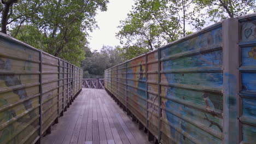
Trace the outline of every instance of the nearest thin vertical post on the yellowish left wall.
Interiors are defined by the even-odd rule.
[[[40,124],[40,129],[39,129],[39,135],[40,135],[40,139],[42,137],[42,125],[43,125],[43,101],[42,101],[42,97],[43,97],[43,79],[42,79],[42,75],[43,75],[43,52],[42,50],[40,50],[40,64],[39,64],[39,71],[40,71],[40,75],[39,75],[39,82],[40,82],[40,86],[39,86],[39,92],[40,92],[40,97],[39,97],[39,103],[40,103],[40,120],[39,120],[39,124]]]

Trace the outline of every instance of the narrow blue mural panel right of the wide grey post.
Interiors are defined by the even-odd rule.
[[[242,20],[241,25],[241,84],[242,142],[256,143],[256,17]],[[249,44],[249,46],[248,46]]]

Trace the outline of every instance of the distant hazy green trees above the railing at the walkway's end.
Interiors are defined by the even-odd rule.
[[[104,70],[123,62],[118,52],[118,46],[115,48],[103,46],[100,52],[93,51],[91,56],[86,57],[82,62],[84,78],[104,78]]]

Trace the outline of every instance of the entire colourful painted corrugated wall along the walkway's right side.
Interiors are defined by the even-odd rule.
[[[256,143],[255,23],[228,19],[119,64],[118,95],[110,68],[107,90],[123,103],[126,87],[126,109],[161,143]]]

